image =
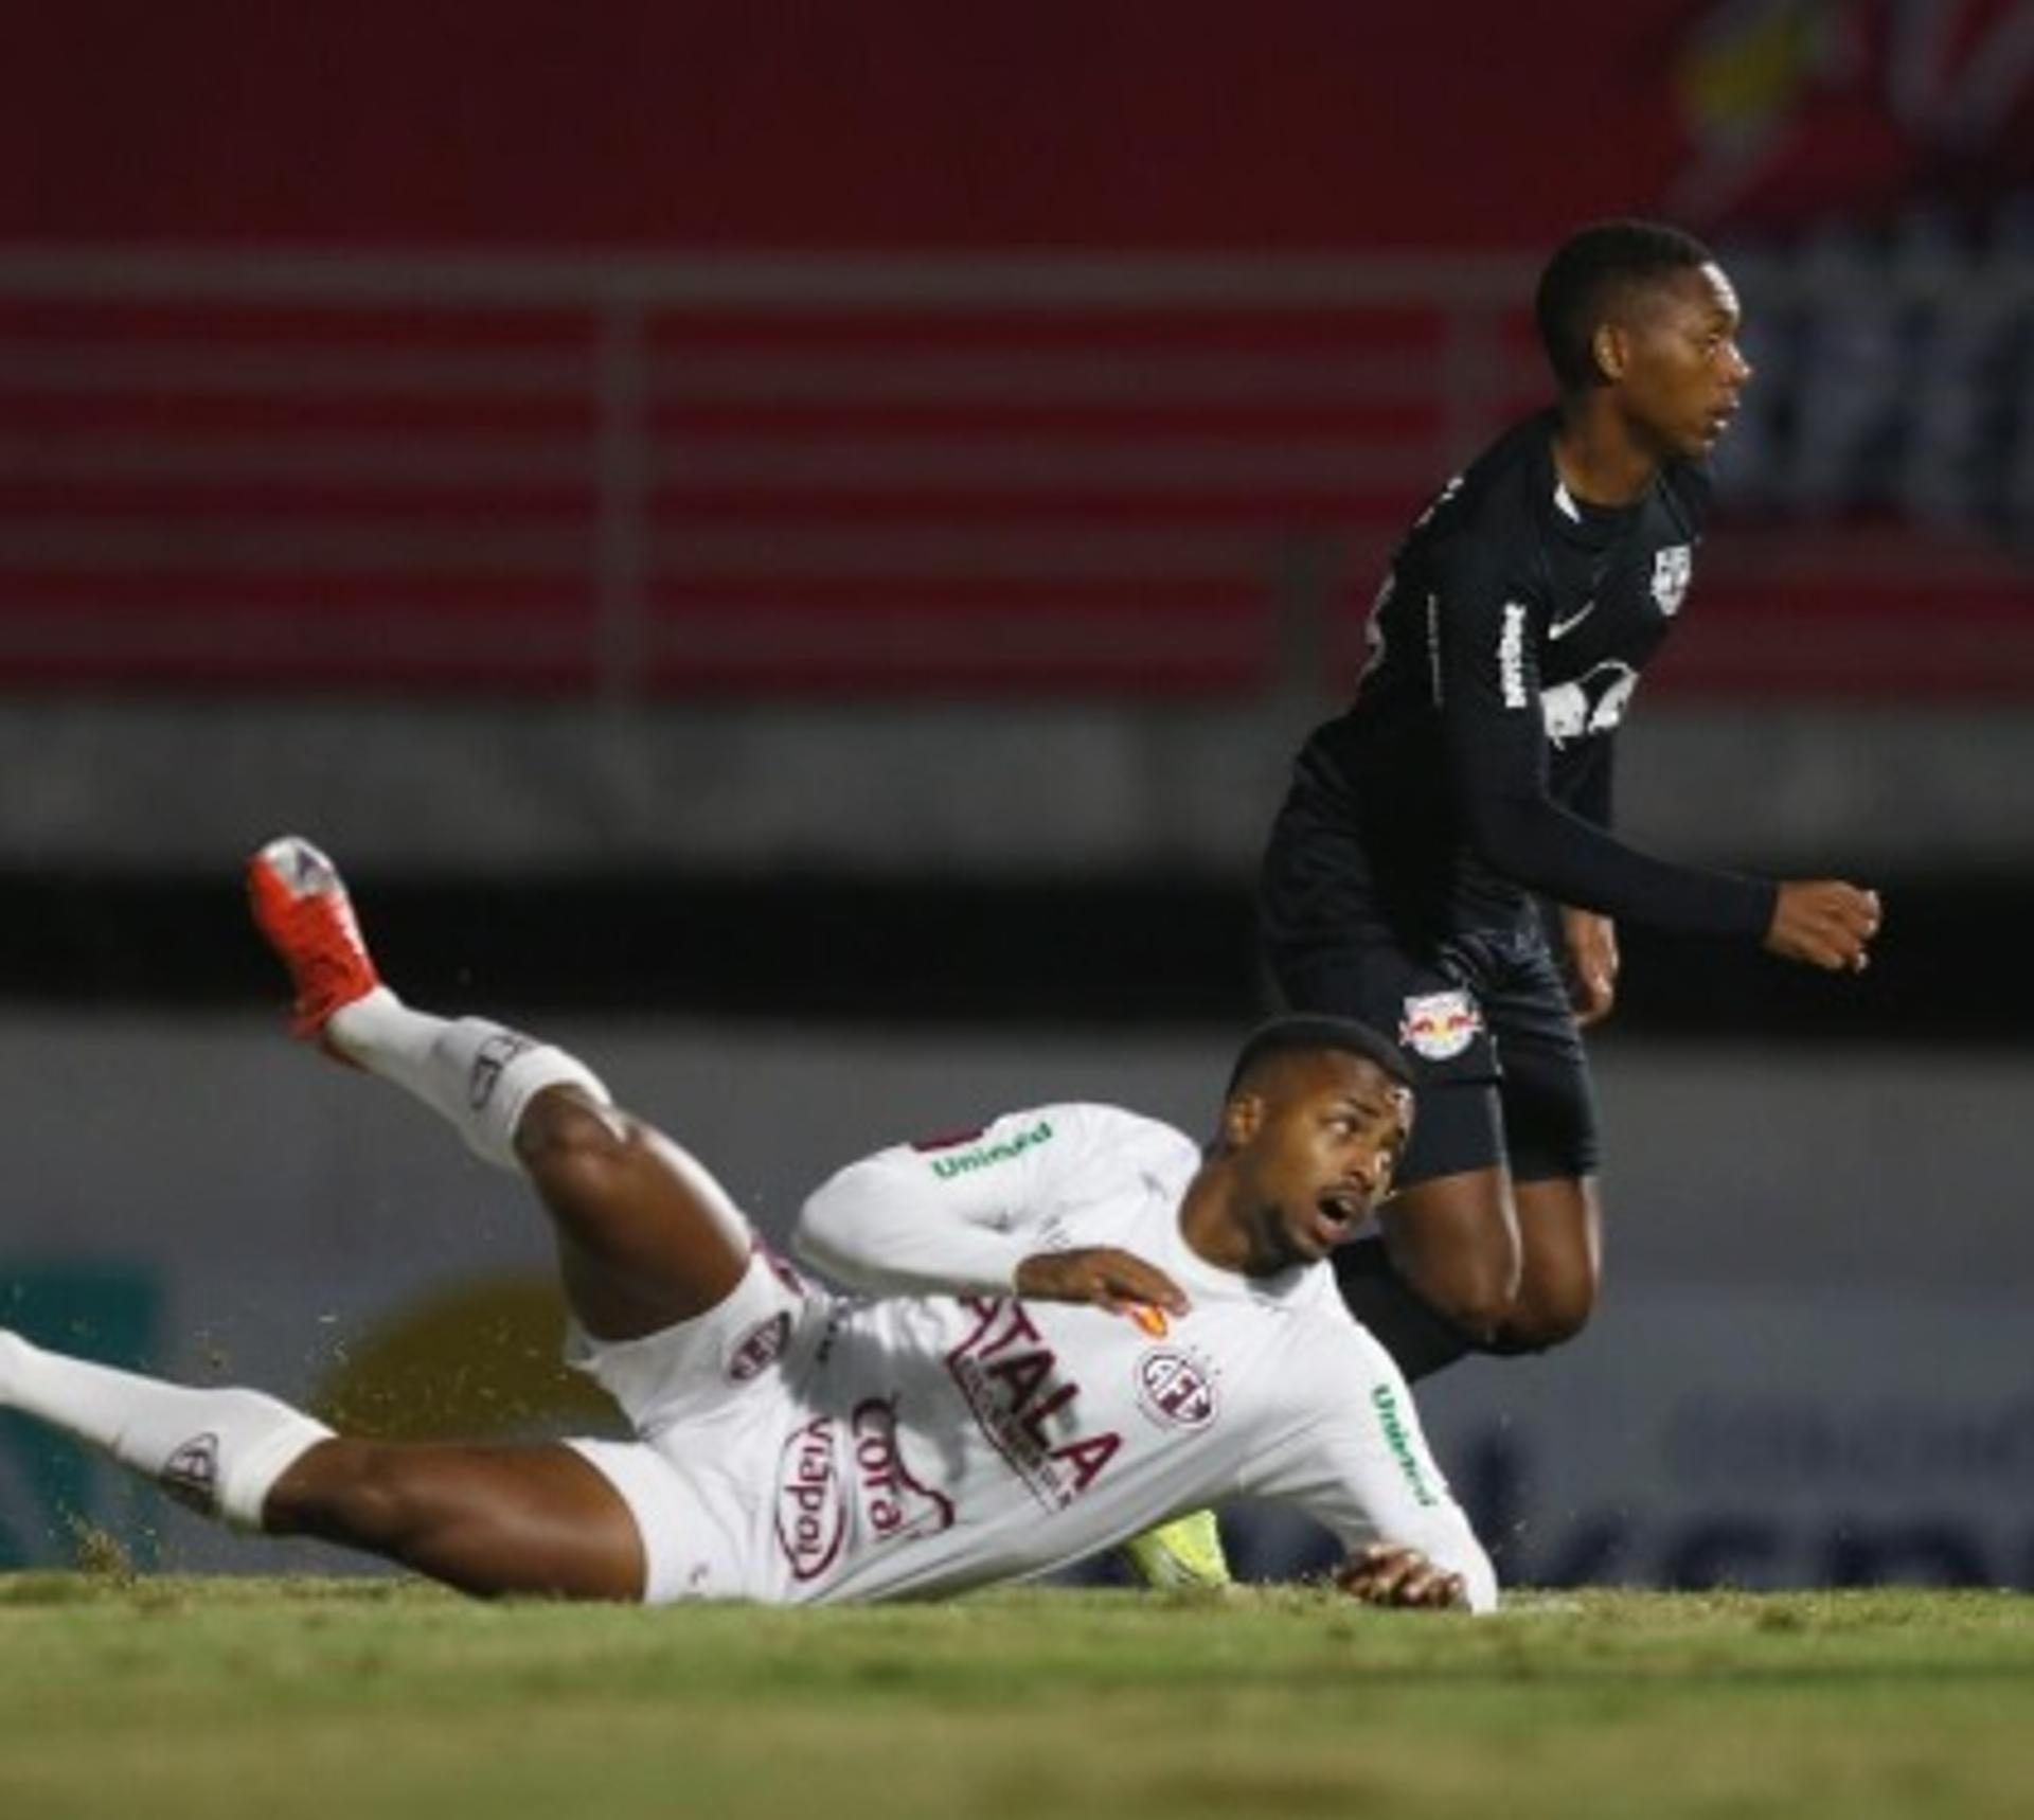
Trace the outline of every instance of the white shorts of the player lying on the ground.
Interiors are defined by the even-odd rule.
[[[641,1340],[572,1326],[565,1360],[629,1417],[635,1442],[572,1440],[629,1505],[649,1566],[643,1598],[769,1598],[775,1476],[803,1419],[793,1379],[832,1297],[757,1247],[734,1291],[698,1320]]]

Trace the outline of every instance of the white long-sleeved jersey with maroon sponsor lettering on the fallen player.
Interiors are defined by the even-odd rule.
[[[1324,1265],[1243,1277],[1192,1253],[1180,1204],[1198,1165],[1172,1127],[1066,1104],[820,1188],[797,1255],[879,1299],[810,1297],[765,1348],[789,1407],[749,1596],[956,1592],[1253,1495],[1351,1545],[1416,1545],[1489,1609],[1489,1560],[1389,1354]],[[1023,1257],[1100,1245],[1165,1271],[1188,1312],[1011,1293]]]

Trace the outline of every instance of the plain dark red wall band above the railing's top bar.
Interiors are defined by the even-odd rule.
[[[1519,248],[2034,171],[2014,0],[16,12],[16,240]]]

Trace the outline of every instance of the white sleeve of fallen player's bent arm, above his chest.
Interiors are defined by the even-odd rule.
[[[877,1151],[807,1196],[791,1251],[850,1289],[1009,1293],[1111,1118],[1145,1125],[1109,1106],[1039,1106],[966,1137]]]

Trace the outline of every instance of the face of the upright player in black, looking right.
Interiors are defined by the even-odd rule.
[[[1751,366],[1737,350],[1737,293],[1721,266],[1676,272],[1625,323],[1625,413],[1662,456],[1707,456],[1729,429]]]

